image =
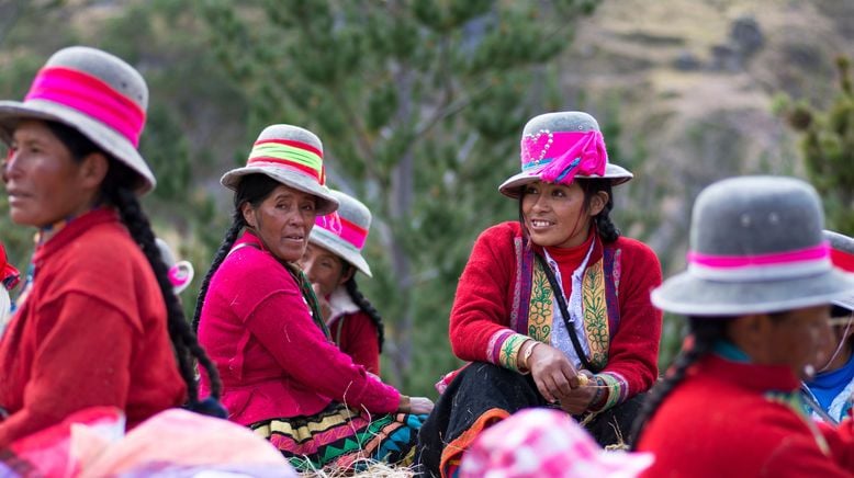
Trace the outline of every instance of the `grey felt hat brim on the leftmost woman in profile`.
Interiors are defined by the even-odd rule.
[[[138,181],[133,185],[133,190],[138,195],[148,193],[157,184],[148,163],[127,138],[103,123],[57,103],[41,100],[24,103],[0,101],[0,139],[10,144],[16,125],[25,120],[54,121],[80,132],[110,156],[136,172]]]

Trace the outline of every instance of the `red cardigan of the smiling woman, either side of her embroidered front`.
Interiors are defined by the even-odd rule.
[[[464,361],[492,362],[491,338],[509,329],[517,258],[514,239],[518,221],[502,223],[481,234],[457,286],[450,317],[453,353]],[[628,390],[621,400],[648,390],[658,377],[661,311],[650,303],[650,291],[661,284],[661,265],[647,244],[621,237],[605,248],[619,249],[619,328],[610,339],[604,375],[622,377]],[[597,258],[591,258],[595,261]]]

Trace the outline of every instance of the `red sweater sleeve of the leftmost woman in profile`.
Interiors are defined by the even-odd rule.
[[[120,310],[89,295],[69,293],[40,309],[23,407],[0,423],[0,447],[88,407],[123,409],[137,332]]]

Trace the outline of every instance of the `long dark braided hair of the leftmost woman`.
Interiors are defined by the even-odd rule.
[[[119,210],[122,223],[127,227],[131,237],[139,246],[145,258],[148,260],[148,263],[151,265],[164,301],[166,303],[169,339],[175,349],[181,377],[184,383],[187,383],[189,408],[200,409],[199,387],[195,382],[193,358],[198,360],[204,367],[211,379],[211,396],[214,400],[218,400],[222,390],[220,374],[213,362],[211,362],[207,354],[199,344],[195,334],[190,330],[190,326],[184,319],[181,304],[175,295],[171,282],[169,282],[168,268],[160,257],[160,249],[155,243],[151,225],[148,221],[148,217],[143,212],[136,194],[131,190],[138,181],[137,174],[76,129],[55,122],[46,122],[46,124],[50,132],[68,148],[75,160],[81,161],[86,156],[92,152],[100,152],[109,158],[110,167],[106,177],[101,183],[100,200],[111,204]],[[218,410],[214,410],[210,405],[202,406],[202,408],[204,407],[207,407],[210,409],[207,411],[211,411],[211,413],[220,413]]]

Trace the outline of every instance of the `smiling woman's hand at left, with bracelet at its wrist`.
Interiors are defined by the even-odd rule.
[[[531,352],[527,365],[537,389],[550,403],[570,397],[573,389],[581,387],[577,371],[570,360],[563,352],[549,344],[538,344]]]

